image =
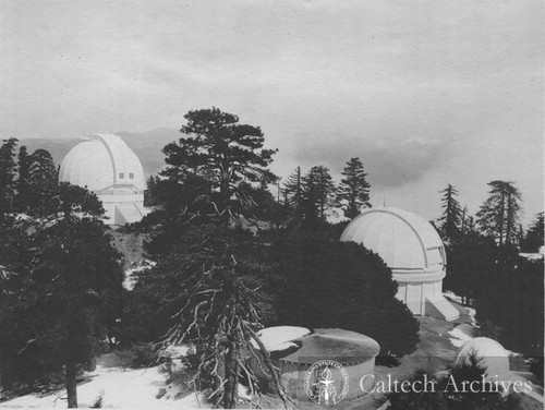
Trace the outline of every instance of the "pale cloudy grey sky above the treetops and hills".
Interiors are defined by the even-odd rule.
[[[0,136],[179,129],[235,113],[272,170],[360,157],[374,206],[475,213],[512,181],[544,209],[541,0],[0,0]]]

